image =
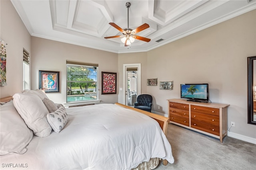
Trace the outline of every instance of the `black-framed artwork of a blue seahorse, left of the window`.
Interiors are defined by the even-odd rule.
[[[39,89],[45,92],[59,92],[59,71],[39,70]]]

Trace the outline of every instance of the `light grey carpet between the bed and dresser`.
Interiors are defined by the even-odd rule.
[[[256,145],[224,137],[219,139],[174,124],[168,125],[167,139],[174,164],[159,163],[155,170],[255,170]]]

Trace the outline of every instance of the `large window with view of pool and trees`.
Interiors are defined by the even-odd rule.
[[[66,61],[67,102],[98,100],[98,64]]]

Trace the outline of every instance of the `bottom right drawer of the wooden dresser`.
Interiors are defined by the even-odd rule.
[[[220,127],[216,126],[216,125],[209,124],[209,123],[204,123],[201,121],[196,121],[194,119],[191,119],[191,127],[201,130],[201,131],[212,133],[217,136],[220,135]]]

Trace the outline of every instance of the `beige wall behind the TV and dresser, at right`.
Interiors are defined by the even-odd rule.
[[[230,104],[230,132],[256,138],[247,124],[247,57],[256,55],[256,10],[148,52],[147,75],[174,81],[174,90],[147,86],[153,110],[168,113],[166,99],[180,98],[180,84],[208,83],[212,102]],[[158,109],[161,106],[162,109]]]

